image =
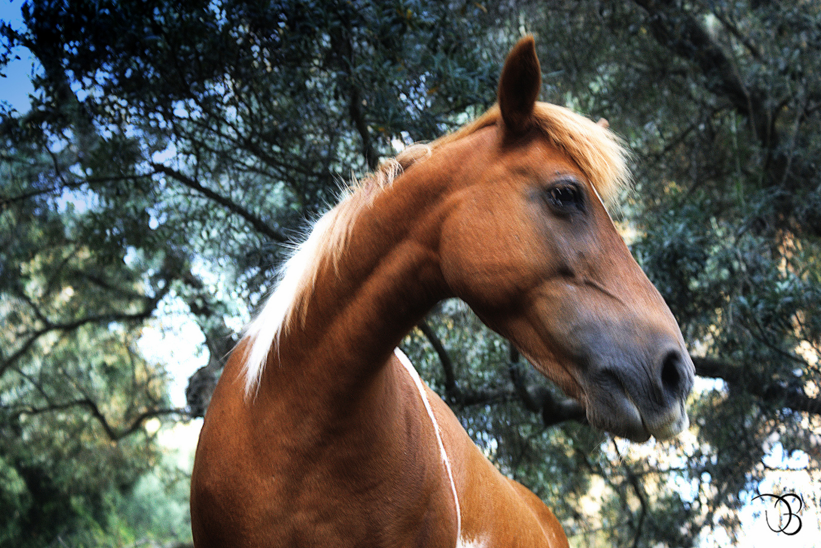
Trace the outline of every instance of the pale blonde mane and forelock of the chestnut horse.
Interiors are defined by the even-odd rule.
[[[339,203],[314,223],[309,236],[291,254],[277,276],[276,289],[265,301],[254,320],[245,327],[245,395],[255,393],[259,378],[268,361],[268,353],[277,348],[280,336],[303,318],[319,269],[326,260],[334,267],[345,250],[351,228],[360,211],[411,164],[427,158],[433,150],[454,140],[469,136],[483,127],[499,122],[498,105],[457,131],[439,137],[429,145],[410,145],[395,159],[384,161],[375,173],[352,182],[342,192]],[[608,129],[570,109],[554,104],[537,103],[534,117],[544,136],[563,150],[593,184],[605,205],[612,205],[618,192],[630,181],[627,168],[629,153],[621,140]]]

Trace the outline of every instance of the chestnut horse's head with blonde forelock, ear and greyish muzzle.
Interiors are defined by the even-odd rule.
[[[528,37],[502,70],[498,110],[470,128],[495,130],[455,176],[443,277],[590,424],[638,441],[677,435],[693,363],[603,203],[626,179],[625,154],[603,125],[538,103],[540,85]]]

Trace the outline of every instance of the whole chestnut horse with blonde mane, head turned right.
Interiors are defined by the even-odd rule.
[[[360,182],[287,261],[205,416],[195,546],[567,546],[395,350],[447,297],[591,425],[641,441],[686,426],[681,332],[603,205],[625,151],[540,86],[527,37],[498,106]]]

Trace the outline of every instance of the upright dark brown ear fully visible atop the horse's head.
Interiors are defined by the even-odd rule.
[[[530,126],[530,117],[542,87],[542,71],[536,57],[533,36],[519,40],[507,54],[499,78],[499,108],[505,128],[522,133]]]

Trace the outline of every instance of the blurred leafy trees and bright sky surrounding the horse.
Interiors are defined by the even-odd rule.
[[[635,154],[612,214],[695,361],[690,429],[592,429],[461,302],[402,348],[571,546],[821,543],[818,2],[2,0],[0,19],[0,546],[190,546],[201,417],[289,244],[352,176],[493,104],[525,33],[541,98]],[[788,493],[791,514],[755,498]]]

